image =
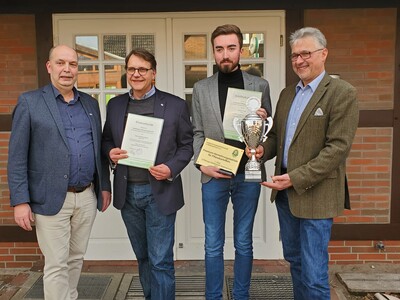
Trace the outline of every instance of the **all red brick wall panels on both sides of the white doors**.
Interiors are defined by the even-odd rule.
[[[327,71],[358,90],[360,109],[392,109],[396,9],[306,10],[305,24],[328,39]],[[35,20],[0,15],[0,113],[11,113],[18,95],[36,88]],[[341,223],[387,223],[390,208],[391,128],[359,128],[348,159],[353,210]],[[0,225],[14,224],[6,162],[9,133],[0,132]],[[400,263],[400,241],[332,241],[331,264]],[[43,260],[37,243],[0,243],[0,268],[30,268]]]

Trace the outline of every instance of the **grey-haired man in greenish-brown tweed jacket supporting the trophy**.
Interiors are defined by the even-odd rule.
[[[276,156],[275,175],[262,185],[273,189],[294,299],[329,300],[328,243],[333,217],[349,208],[345,171],[358,126],[356,89],[325,72],[328,49],[318,29],[297,30],[290,47],[300,81],[281,92],[256,156]]]

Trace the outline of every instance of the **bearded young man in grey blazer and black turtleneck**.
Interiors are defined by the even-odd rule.
[[[244,143],[225,139],[223,118],[228,88],[262,92],[261,117],[271,115],[269,84],[266,80],[242,72],[239,65],[243,50],[240,29],[231,24],[217,27],[211,36],[218,72],[197,82],[193,89],[194,154],[197,160],[205,138],[245,148]],[[248,299],[253,263],[253,224],[260,196],[260,184],[244,181],[243,155],[236,176],[222,174],[215,166],[197,166],[201,174],[203,221],[205,225],[206,299],[222,299],[224,280],[224,243],[226,209],[231,198],[234,216],[235,299]]]

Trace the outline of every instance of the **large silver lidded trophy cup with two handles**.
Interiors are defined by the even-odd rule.
[[[250,113],[242,120],[234,118],[233,127],[238,132],[240,140],[245,142],[252,154],[251,159],[245,166],[245,181],[261,182],[261,163],[255,157],[256,148],[267,139],[267,134],[272,128],[273,121],[272,117],[264,120],[256,114],[257,109],[261,107],[261,102],[258,98],[248,98],[246,107]]]

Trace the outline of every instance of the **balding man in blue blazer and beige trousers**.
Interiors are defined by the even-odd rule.
[[[96,99],[78,91],[78,55],[50,50],[51,84],[23,93],[13,112],[8,155],[10,202],[16,223],[32,230],[45,257],[45,299],[77,299],[96,207],[111,201],[107,160],[101,155]]]

